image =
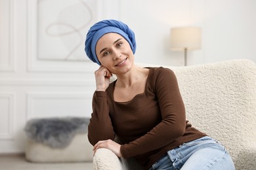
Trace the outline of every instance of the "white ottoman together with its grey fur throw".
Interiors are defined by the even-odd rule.
[[[75,119],[79,120],[77,118]],[[84,119],[79,120],[78,123],[77,121],[70,122],[70,120],[73,121],[75,119],[55,118],[30,120],[25,127],[25,131],[28,136],[25,149],[26,160],[32,162],[52,163],[93,161],[93,146],[88,141],[87,129],[85,129],[87,128],[87,122]],[[58,124],[58,122],[60,122],[60,124]],[[60,134],[63,133],[61,132],[62,129],[64,134]],[[51,131],[56,132],[51,134]],[[72,135],[70,135],[70,131],[72,131]],[[73,131],[75,131],[75,133]],[[79,133],[77,133],[77,131],[79,131]],[[55,144],[58,147],[54,147],[53,145],[51,146],[51,142],[59,140],[65,141],[65,137],[69,137],[71,139],[68,140],[70,141],[68,144],[61,147],[59,146],[61,143],[58,143],[58,145]],[[47,139],[48,141],[42,140],[41,142],[40,139]]]

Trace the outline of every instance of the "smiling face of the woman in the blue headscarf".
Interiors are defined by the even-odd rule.
[[[96,44],[98,61],[113,74],[127,73],[134,56],[129,42],[117,33],[106,33]]]

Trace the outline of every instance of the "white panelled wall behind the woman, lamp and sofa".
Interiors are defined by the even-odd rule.
[[[53,5],[42,6],[49,2]],[[77,7],[81,2],[91,7],[89,25],[114,18],[135,31],[137,62],[183,65],[182,52],[169,50],[169,31],[186,25],[200,26],[203,31],[202,48],[188,52],[188,65],[256,59],[254,0],[0,0],[0,154],[24,152],[23,128],[30,118],[90,116],[95,90],[93,73],[98,66],[83,52],[83,35],[89,25],[75,33],[80,37],[60,37],[55,42],[54,36],[48,37],[53,41],[40,37],[38,24],[54,19],[55,11],[71,3],[73,10],[63,7],[56,16],[62,22],[72,21],[71,26],[83,25],[81,21],[88,18],[82,16],[90,14],[88,10],[83,14],[83,5]],[[42,18],[41,14],[53,15]],[[71,52],[77,40],[81,41],[79,48],[70,60],[57,58]]]

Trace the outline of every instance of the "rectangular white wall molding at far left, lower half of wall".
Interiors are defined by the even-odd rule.
[[[7,113],[8,116],[8,131],[6,133],[0,133],[0,139],[14,139],[13,130],[14,130],[14,102],[15,95],[12,92],[0,92],[0,99],[7,99],[9,101]],[[2,113],[3,114],[3,113]]]

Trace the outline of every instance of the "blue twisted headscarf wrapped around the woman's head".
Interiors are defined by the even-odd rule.
[[[96,56],[95,48],[100,37],[102,37],[106,33],[118,33],[119,35],[121,35],[123,38],[126,39],[126,41],[129,42],[131,50],[133,51],[133,54],[135,54],[136,41],[133,31],[123,22],[117,20],[102,20],[93,25],[89,29],[86,36],[85,52],[88,58],[91,59],[91,61],[98,63],[98,65],[101,65],[100,61],[98,61],[98,58]]]

